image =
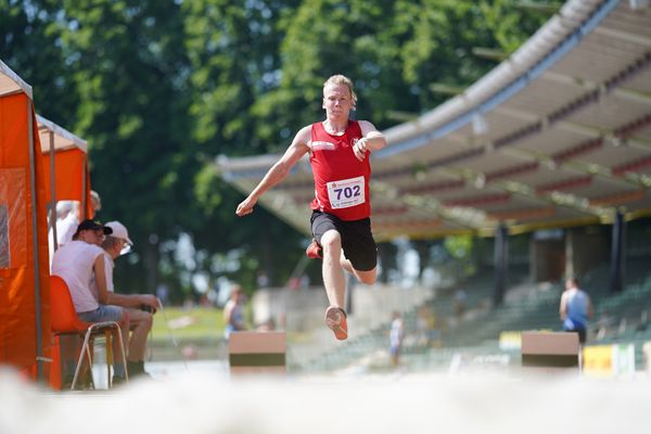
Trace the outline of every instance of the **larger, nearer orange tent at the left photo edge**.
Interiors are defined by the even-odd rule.
[[[50,353],[46,189],[31,87],[0,61],[0,363],[44,379]]]

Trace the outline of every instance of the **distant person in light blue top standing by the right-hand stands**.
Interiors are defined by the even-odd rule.
[[[589,295],[578,288],[577,279],[569,278],[565,281],[559,314],[563,321],[563,331],[578,333],[578,341],[585,344],[588,319],[592,317],[593,309]]]

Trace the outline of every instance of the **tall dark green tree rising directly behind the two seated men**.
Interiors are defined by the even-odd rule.
[[[132,283],[156,283],[159,243],[192,219],[199,168],[188,140],[184,28],[174,2],[63,3],[60,31],[79,92],[75,130],[89,140],[104,220],[119,219],[142,263]],[[123,265],[124,266],[124,265]],[[126,267],[126,266],[124,266]]]

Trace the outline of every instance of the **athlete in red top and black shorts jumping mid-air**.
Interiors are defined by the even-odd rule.
[[[326,324],[340,341],[348,337],[344,269],[366,284],[374,283],[378,276],[378,247],[370,220],[369,154],[384,148],[386,140],[370,122],[348,118],[356,103],[349,78],[334,75],[326,80],[326,120],[301,128],[282,157],[235,210],[240,217],[251,214],[258,199],[309,154],[316,196],[310,219],[314,240],[306,254],[323,259],[323,285],[330,303]]]

